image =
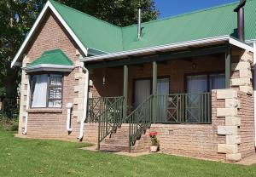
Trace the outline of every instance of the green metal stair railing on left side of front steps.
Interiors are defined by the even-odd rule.
[[[98,149],[100,143],[108,134],[116,131],[123,121],[124,97],[105,97],[100,102],[96,102],[99,111],[93,112],[93,121],[98,121]],[[103,106],[102,106],[103,105]]]

